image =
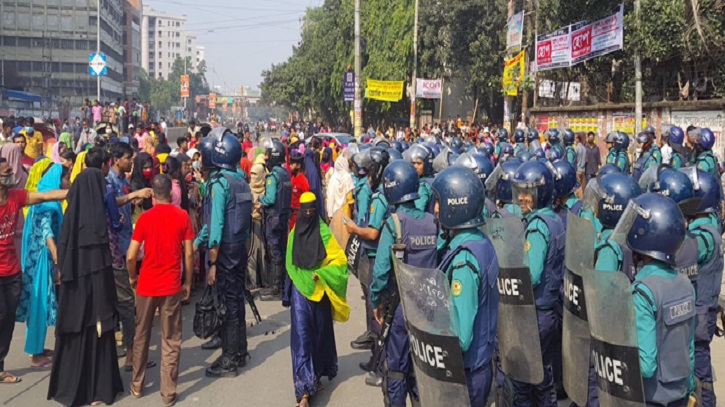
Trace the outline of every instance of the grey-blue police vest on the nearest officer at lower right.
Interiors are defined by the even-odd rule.
[[[645,277],[634,285],[635,290],[645,285],[654,295],[654,299],[644,295],[654,300],[657,335],[657,371],[651,378],[643,378],[645,400],[649,402],[667,405],[687,395],[695,328],[695,291],[688,283],[687,277],[677,274],[674,279]]]

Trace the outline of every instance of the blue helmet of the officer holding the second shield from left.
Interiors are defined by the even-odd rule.
[[[545,208],[554,197],[554,175],[540,161],[525,162],[511,179],[511,189],[514,201],[519,205],[522,197],[530,195],[531,210]]]

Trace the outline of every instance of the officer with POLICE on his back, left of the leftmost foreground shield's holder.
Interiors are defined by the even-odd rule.
[[[380,235],[380,247],[392,247],[393,250],[379,250],[375,257],[370,302],[379,324],[383,325],[393,315],[385,346],[386,363],[383,369],[383,397],[386,406],[405,406],[406,395],[410,395],[413,404],[418,400],[403,307],[399,302],[390,301],[386,309],[383,303],[383,297],[395,297],[398,290],[391,255],[415,267],[432,269],[437,265],[438,227],[432,214],[415,206],[418,189],[418,172],[412,164],[394,161],[383,171],[385,199],[395,212],[385,220]],[[384,313],[390,315],[384,316]]]

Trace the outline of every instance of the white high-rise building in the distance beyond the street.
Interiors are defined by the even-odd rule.
[[[168,79],[176,58],[190,58],[188,68],[196,69],[199,47],[196,35],[186,28],[186,15],[166,14],[144,6],[141,35],[141,66],[150,77]],[[203,54],[202,47],[202,59]]]

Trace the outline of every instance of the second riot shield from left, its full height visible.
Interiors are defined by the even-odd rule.
[[[524,224],[519,218],[486,219],[483,232],[498,257],[498,342],[501,368],[513,380],[538,384],[544,380],[539,324]]]

